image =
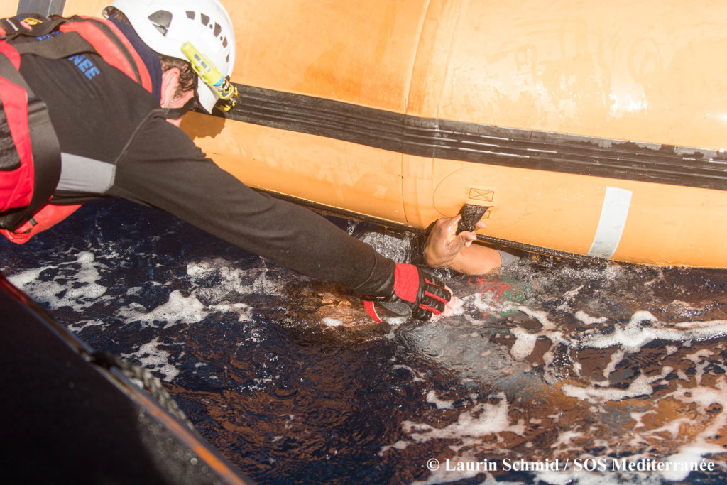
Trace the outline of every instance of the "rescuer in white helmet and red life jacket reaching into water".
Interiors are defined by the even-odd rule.
[[[196,106],[210,113],[233,103],[236,43],[217,0],[116,0],[103,13],[0,20],[0,228],[8,239],[23,243],[84,202],[119,197],[349,286],[377,321],[374,302],[422,320],[444,310],[451,293],[437,278],[246,187],[179,128]],[[441,247],[439,256],[427,260],[448,265],[474,237],[437,231],[429,246]]]

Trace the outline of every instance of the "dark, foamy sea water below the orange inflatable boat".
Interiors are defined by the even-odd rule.
[[[413,236],[334,222],[411,260]],[[262,484],[727,482],[726,271],[528,257],[440,272],[454,316],[375,324],[347,289],[125,201],[0,241],[0,270],[153,369]]]

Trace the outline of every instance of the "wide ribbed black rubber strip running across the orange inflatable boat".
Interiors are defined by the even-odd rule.
[[[217,116],[409,155],[727,190],[724,151],[419,118],[236,86],[242,102]]]

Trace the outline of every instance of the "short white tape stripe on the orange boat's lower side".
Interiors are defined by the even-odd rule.
[[[608,260],[614,255],[624,233],[624,225],[631,206],[631,195],[631,191],[622,188],[606,187],[601,220],[598,221],[598,229],[595,231],[588,256]]]

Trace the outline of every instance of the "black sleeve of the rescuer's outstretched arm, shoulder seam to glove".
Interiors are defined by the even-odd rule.
[[[253,191],[181,129],[145,121],[116,163],[108,195],[163,209],[225,241],[313,278],[379,296],[395,264],[310,211]]]

